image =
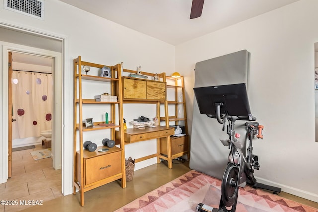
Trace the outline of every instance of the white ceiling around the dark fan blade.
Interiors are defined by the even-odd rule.
[[[298,0],[205,0],[196,19],[190,19],[192,0],[60,1],[178,45]]]

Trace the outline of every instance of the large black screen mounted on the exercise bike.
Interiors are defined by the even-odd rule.
[[[215,103],[222,103],[221,114],[251,116],[245,83],[196,87],[193,90],[201,114],[216,115]]]

